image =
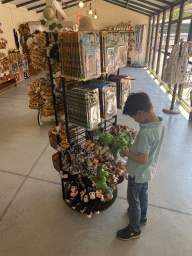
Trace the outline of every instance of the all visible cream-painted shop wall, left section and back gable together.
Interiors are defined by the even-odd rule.
[[[77,18],[76,14],[88,15],[89,4],[92,3],[92,8],[95,10],[95,1],[88,2],[87,7],[84,9],[80,9],[78,6],[72,7],[69,9],[65,9],[65,13],[68,16],[69,20],[74,21],[76,23]],[[147,24],[147,29],[145,33],[145,45],[143,49],[143,53],[139,56],[139,61],[144,63],[145,53],[146,53],[146,41],[147,41],[147,32],[148,32],[148,21],[149,17],[142,15],[137,12],[133,12],[127,10],[122,7],[118,7],[117,5],[110,4],[108,2],[98,0],[96,2],[96,9],[99,15],[99,19],[93,19],[94,25],[97,29],[103,29],[106,26],[114,26],[121,22],[131,21],[132,26],[135,27],[137,24]],[[2,4],[0,2],[0,23],[2,23],[1,29],[3,30],[3,34],[0,34],[0,37],[5,38],[8,41],[8,45],[6,49],[1,49],[1,52],[5,52],[7,54],[9,49],[16,48],[15,40],[13,36],[13,29],[18,30],[19,25],[22,23],[26,23],[28,21],[36,21],[42,16],[42,13],[37,14],[35,11],[27,11],[26,8],[16,8],[13,4]],[[18,33],[19,35],[19,33]],[[134,35],[136,39],[136,34]],[[20,36],[19,36],[20,39]],[[21,50],[21,48],[20,48]],[[138,54],[135,53],[135,47],[130,54],[132,59],[132,63],[138,61]]]

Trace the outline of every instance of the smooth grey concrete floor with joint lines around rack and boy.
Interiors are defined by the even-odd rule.
[[[162,112],[171,97],[146,69],[124,68],[132,91],[149,94],[163,117],[165,139],[156,177],[149,183],[148,224],[131,241],[116,238],[128,223],[125,181],[115,203],[88,219],[62,200],[58,172],[48,141],[54,126],[37,123],[30,110],[30,78],[0,95],[0,255],[1,256],[190,256],[192,252],[192,125],[179,115]],[[176,104],[177,106],[177,104]],[[139,125],[118,110],[118,123]]]

